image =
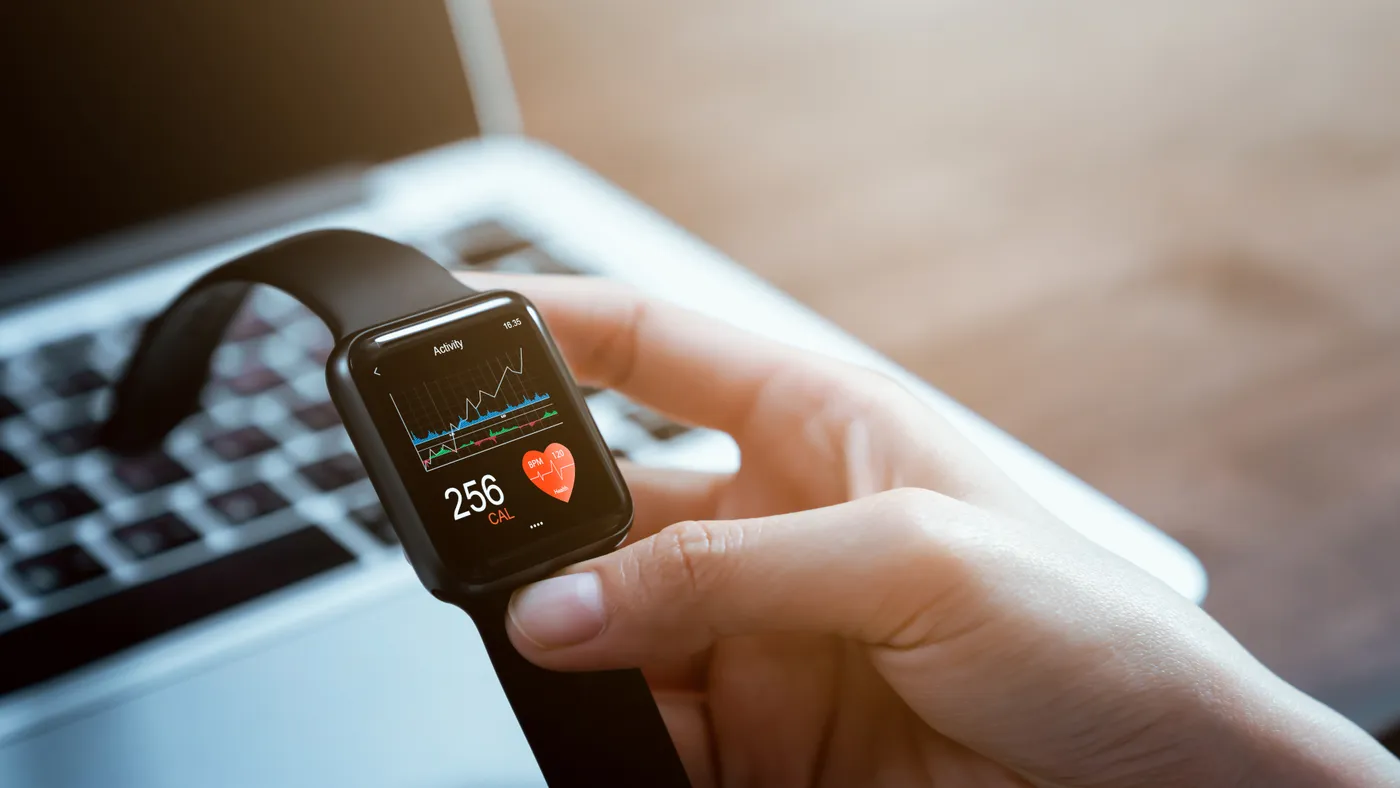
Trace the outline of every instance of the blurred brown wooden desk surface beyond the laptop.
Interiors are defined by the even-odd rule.
[[[1287,679],[1400,715],[1400,4],[497,14],[531,134],[1179,537]]]

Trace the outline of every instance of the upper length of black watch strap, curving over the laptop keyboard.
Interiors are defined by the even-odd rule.
[[[199,406],[209,363],[255,284],[283,290],[336,339],[473,293],[433,258],[354,230],[294,235],[200,277],[141,333],[102,428],[108,448],[155,448]]]

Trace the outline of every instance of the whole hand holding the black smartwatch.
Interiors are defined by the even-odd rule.
[[[890,379],[605,281],[469,281],[529,295],[581,381],[741,446],[732,476],[627,467],[629,543],[508,621],[542,666],[641,666],[696,785],[1400,784]]]

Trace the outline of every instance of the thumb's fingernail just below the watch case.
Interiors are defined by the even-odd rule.
[[[603,631],[603,589],[594,572],[552,577],[511,596],[511,621],[540,648],[564,648]]]

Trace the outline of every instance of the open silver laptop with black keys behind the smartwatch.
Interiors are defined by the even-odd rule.
[[[318,227],[451,269],[617,277],[883,370],[1071,526],[1205,592],[1159,530],[518,136],[484,1],[0,14],[0,785],[540,784],[470,621],[403,561],[304,308],[256,293],[160,451],[92,442],[144,321]],[[588,404],[619,456],[739,462],[615,392]]]

